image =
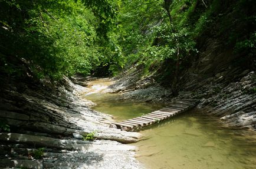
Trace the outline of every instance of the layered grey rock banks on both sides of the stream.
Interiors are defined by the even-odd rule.
[[[117,77],[107,92],[120,93],[120,99],[134,102],[168,104],[175,99],[200,99],[198,107],[218,116],[228,127],[255,130],[256,75],[248,70],[239,72],[232,82],[226,79],[230,72],[208,78],[187,73],[181,77],[179,96],[172,97],[171,90],[154,76],[142,77],[132,67]],[[84,87],[90,84],[83,79],[73,82],[64,78],[58,88],[47,83],[19,83],[1,89],[0,168],[143,168],[134,158],[136,147],[122,144],[142,136],[110,128],[112,117],[90,109],[94,103],[81,97],[90,92]],[[8,132],[4,131],[6,124]],[[84,140],[87,134],[96,140]],[[35,159],[35,154],[40,159]]]

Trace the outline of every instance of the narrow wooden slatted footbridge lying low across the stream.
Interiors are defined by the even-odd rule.
[[[142,129],[142,127],[149,126],[159,121],[169,119],[182,112],[188,111],[198,104],[199,100],[196,99],[182,99],[175,100],[160,110],[153,111],[149,114],[139,116],[130,120],[114,122],[112,124],[117,126],[117,129],[126,131],[133,131]]]

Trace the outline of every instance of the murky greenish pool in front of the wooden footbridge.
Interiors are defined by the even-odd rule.
[[[137,158],[147,168],[255,168],[255,140],[220,125],[196,110],[175,117],[141,131],[151,137],[135,144]]]

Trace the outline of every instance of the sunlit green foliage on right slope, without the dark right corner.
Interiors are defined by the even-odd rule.
[[[164,1],[124,1],[119,14],[119,44],[128,64],[137,62],[148,69],[155,60],[159,62],[180,62],[188,64],[188,57],[196,50],[188,20],[196,8],[196,2],[173,1],[170,13],[173,18],[170,25],[168,15],[163,8]],[[187,12],[180,12],[185,6]],[[190,6],[189,6],[190,5]],[[185,14],[183,14],[185,13]],[[171,70],[173,71],[173,70]],[[148,70],[145,70],[148,72]]]

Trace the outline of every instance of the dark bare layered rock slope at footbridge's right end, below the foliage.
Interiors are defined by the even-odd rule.
[[[206,38],[201,53],[180,79],[180,96],[202,99],[201,107],[229,126],[256,129],[255,58],[219,39]],[[182,96],[184,95],[184,96]]]

